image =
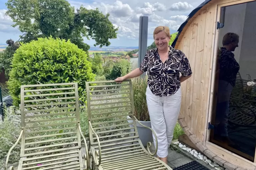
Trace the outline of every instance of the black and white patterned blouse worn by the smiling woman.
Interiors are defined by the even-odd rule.
[[[149,88],[160,97],[172,95],[180,88],[180,72],[184,77],[192,74],[185,54],[171,46],[165,63],[161,61],[155,48],[147,52],[139,69],[142,72],[148,71]]]

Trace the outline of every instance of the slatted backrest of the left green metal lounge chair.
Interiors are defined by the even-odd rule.
[[[21,86],[21,156],[81,148],[78,84]]]

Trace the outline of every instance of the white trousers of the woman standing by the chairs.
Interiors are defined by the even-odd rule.
[[[163,158],[168,155],[168,147],[172,142],[173,130],[180,113],[181,88],[173,95],[159,97],[154,95],[148,86],[146,96],[151,127],[157,136],[157,156]],[[156,145],[154,134],[153,139]]]

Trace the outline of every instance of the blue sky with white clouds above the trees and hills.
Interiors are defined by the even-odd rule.
[[[110,39],[110,46],[139,45],[139,17],[148,16],[148,45],[153,40],[153,31],[157,26],[168,26],[175,33],[186,20],[188,14],[204,0],[67,0],[71,6],[81,5],[88,9],[98,7],[103,14],[109,13],[109,20],[119,27],[117,39]],[[8,39],[17,41],[22,35],[9,17],[4,17],[7,0],[0,0],[0,44]],[[93,46],[93,40],[84,38],[84,42]]]

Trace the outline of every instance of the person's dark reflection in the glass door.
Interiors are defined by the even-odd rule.
[[[234,145],[229,139],[227,132],[229,98],[236,84],[239,64],[234,58],[236,47],[238,47],[239,36],[235,33],[227,33],[222,40],[223,47],[218,50],[217,75],[219,75],[217,108],[215,121],[215,135],[222,142]]]

